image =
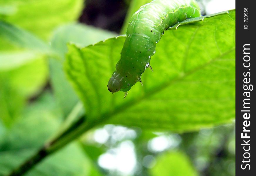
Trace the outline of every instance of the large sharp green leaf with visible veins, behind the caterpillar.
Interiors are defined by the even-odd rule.
[[[143,87],[110,94],[125,37],[85,48],[69,45],[65,70],[93,125],[114,123],[192,131],[235,118],[235,11],[165,31]]]

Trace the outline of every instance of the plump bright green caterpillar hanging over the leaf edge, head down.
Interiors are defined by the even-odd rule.
[[[136,82],[141,82],[146,68],[151,68],[150,58],[164,31],[179,21],[199,16],[200,8],[194,0],[154,0],[141,6],[129,22],[121,58],[107,84],[108,90],[125,92],[125,97]]]

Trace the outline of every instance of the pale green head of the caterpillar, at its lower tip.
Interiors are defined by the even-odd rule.
[[[107,89],[112,93],[118,92],[119,90],[124,91],[124,89],[129,87],[127,82],[128,79],[126,77],[122,76],[120,73],[114,72],[107,83]]]

